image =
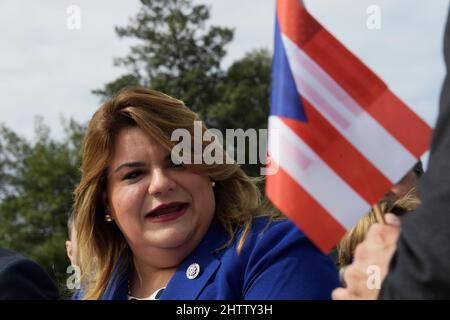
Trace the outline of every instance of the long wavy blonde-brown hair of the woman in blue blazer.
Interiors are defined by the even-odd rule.
[[[102,200],[116,135],[122,129],[138,127],[171,150],[176,144],[170,139],[172,132],[183,128],[194,137],[196,120],[199,120],[196,113],[182,101],[145,88],[120,92],[93,115],[84,137],[81,181],[75,190],[74,206],[77,261],[82,272],[84,299],[101,297],[120,257],[125,261],[124,270],[132,266],[131,250],[121,231],[114,223],[105,221]],[[210,142],[202,143],[205,148]],[[225,156],[224,153],[224,159]],[[248,177],[239,165],[195,164],[186,165],[186,169],[206,174],[216,182],[215,215],[229,234],[225,247],[233,243],[237,231],[243,228],[238,243],[240,252],[254,216],[280,218],[276,210],[261,200],[255,179]]]

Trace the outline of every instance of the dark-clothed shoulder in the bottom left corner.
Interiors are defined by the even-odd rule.
[[[58,299],[59,293],[47,273],[25,257],[9,259],[0,271],[0,300]]]

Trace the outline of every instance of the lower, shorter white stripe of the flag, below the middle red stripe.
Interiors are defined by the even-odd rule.
[[[352,228],[370,209],[370,205],[277,116],[269,117],[268,151],[272,160],[344,228]]]

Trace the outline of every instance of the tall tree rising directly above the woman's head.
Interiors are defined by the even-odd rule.
[[[136,84],[165,92],[204,116],[217,101],[216,86],[223,79],[220,64],[232,40],[229,28],[207,26],[209,8],[191,0],[141,0],[137,16],[119,37],[139,40],[115,65],[130,73],[93,92],[103,99]]]

